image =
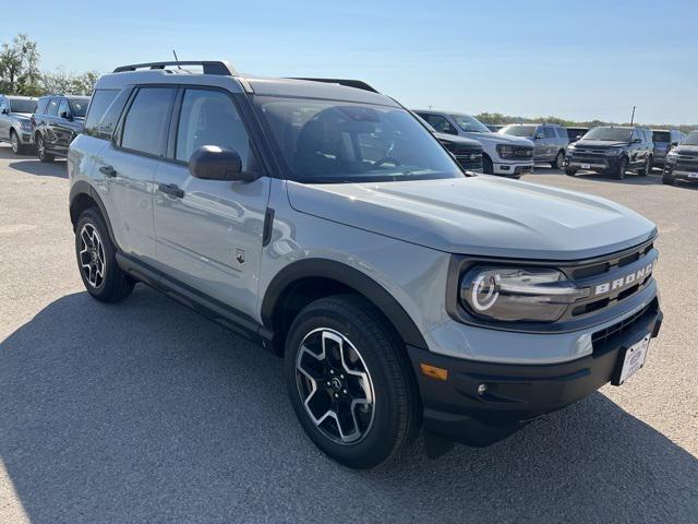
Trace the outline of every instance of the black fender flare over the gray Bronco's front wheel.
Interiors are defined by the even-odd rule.
[[[385,287],[361,271],[328,259],[299,260],[276,274],[267,286],[262,300],[261,317],[265,326],[273,325],[274,312],[285,291],[290,289],[294,283],[309,277],[328,278],[354,289],[385,314],[405,344],[422,349],[429,348],[414,321]]]

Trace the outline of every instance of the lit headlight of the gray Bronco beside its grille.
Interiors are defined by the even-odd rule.
[[[554,322],[588,294],[553,269],[478,266],[460,279],[460,301],[471,314],[509,322]]]

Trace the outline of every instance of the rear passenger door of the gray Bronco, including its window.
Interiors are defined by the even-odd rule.
[[[113,140],[95,159],[117,243],[123,253],[149,264],[155,264],[153,178],[166,156],[176,94],[177,87],[135,90]],[[108,126],[99,128],[106,132]]]

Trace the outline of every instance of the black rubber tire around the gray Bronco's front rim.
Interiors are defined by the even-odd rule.
[[[421,424],[418,388],[404,348],[400,347],[401,341],[381,318],[381,312],[364,298],[354,295],[335,295],[305,307],[293,320],[286,340],[284,374],[293,410],[301,426],[324,453],[346,466],[359,469],[374,467],[394,457],[400,449],[413,440]],[[357,416],[365,417],[365,413],[371,413],[371,422],[363,428],[363,432],[349,432],[349,434],[362,434],[356,442],[339,443],[333,440],[327,433],[333,428],[336,431],[338,425],[327,417],[327,425],[322,429],[323,424],[316,425],[305,408],[304,402],[315,394],[320,395],[323,406],[313,416],[314,419],[322,419],[324,409],[327,409],[327,413],[329,409],[340,413],[341,409],[342,400],[335,401],[332,397],[337,397],[338,395],[334,392],[340,392],[339,388],[344,385],[334,389],[334,383],[330,386],[329,380],[325,382],[325,379],[334,378],[338,372],[334,371],[332,366],[329,371],[327,369],[317,371],[323,378],[313,381],[313,389],[304,398],[302,396],[308,390],[310,379],[297,370],[297,359],[299,355],[301,359],[303,358],[301,344],[308,347],[311,344],[309,341],[312,336],[316,336],[318,331],[321,336],[324,336],[322,333],[327,332],[333,332],[335,335],[338,333],[349,342],[349,344],[342,342],[342,347],[348,347],[348,350],[357,349],[360,362],[365,366],[370,378],[369,384],[372,384],[372,391],[375,392],[373,409],[365,409],[363,415],[361,413],[357,415],[358,405],[352,412],[344,408],[345,414],[354,415],[353,429],[356,430],[359,429],[356,422]],[[310,357],[306,355],[305,358]],[[333,359],[336,361],[337,357]],[[329,362],[333,359],[327,358],[322,362],[324,364],[325,360]],[[358,359],[354,361],[359,362]],[[315,360],[315,362],[318,361]],[[323,364],[316,364],[316,366],[323,366]],[[335,374],[330,377],[329,372]],[[346,377],[349,379],[348,374]],[[362,383],[365,384],[365,382]],[[351,388],[348,389],[351,390]],[[363,390],[365,391],[365,386]],[[347,393],[347,390],[341,391]],[[344,405],[349,403],[351,398]]]

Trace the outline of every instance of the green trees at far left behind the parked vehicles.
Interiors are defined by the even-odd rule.
[[[0,45],[0,93],[41,96],[49,93],[91,95],[99,78],[97,71],[74,73],[58,68],[40,71],[40,52],[36,41],[25,34]]]

